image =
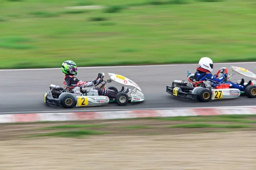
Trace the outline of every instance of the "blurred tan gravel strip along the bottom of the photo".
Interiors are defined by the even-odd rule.
[[[1,170],[255,170],[254,132],[0,141]]]

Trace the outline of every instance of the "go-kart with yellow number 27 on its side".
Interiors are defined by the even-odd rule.
[[[218,85],[215,88],[212,87],[210,81],[196,81],[194,75],[187,71],[187,80],[174,80],[171,86],[166,86],[166,92],[173,96],[182,97],[186,99],[198,100],[200,102],[209,102],[210,100],[218,99],[234,99],[242,95],[246,95],[248,98],[256,97],[256,74],[248,71],[245,68],[231,66],[232,73],[227,76],[226,82],[229,81],[234,74],[238,73],[246,77],[253,78],[253,81],[248,85],[244,91],[240,91],[237,88],[229,88],[228,84]],[[218,74],[227,74],[227,68],[221,68]],[[241,80],[238,81],[240,83]],[[247,85],[247,83],[244,83]]]

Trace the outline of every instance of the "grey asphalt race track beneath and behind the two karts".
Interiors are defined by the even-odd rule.
[[[216,63],[214,72],[221,67],[240,66],[256,73],[256,63]],[[186,80],[186,70],[195,72],[197,64],[188,65],[151,65],[151,66],[123,66],[123,67],[92,67],[79,68],[77,77],[84,81],[94,80],[98,73],[104,72],[121,74],[136,82],[143,93],[145,101],[142,103],[118,106],[109,104],[102,107],[64,109],[53,105],[45,105],[43,95],[49,91],[49,85],[63,85],[64,75],[61,69],[35,70],[0,70],[0,114],[7,113],[45,113],[45,112],[75,112],[75,111],[114,111],[133,109],[163,109],[163,108],[192,108],[192,107],[219,107],[219,106],[254,106],[256,99],[241,96],[237,99],[211,101],[201,103],[187,99],[179,99],[166,93],[166,85],[174,79]],[[243,78],[236,74],[231,80],[236,82]],[[249,81],[248,77],[244,77]],[[111,82],[109,86],[122,85]]]

